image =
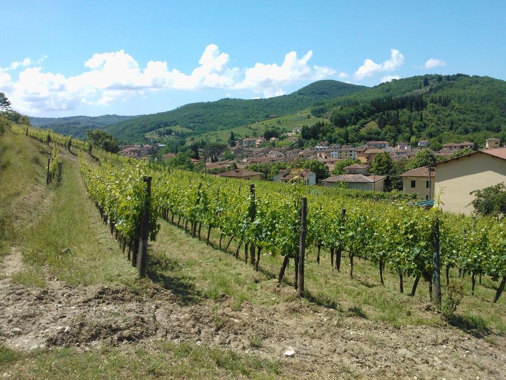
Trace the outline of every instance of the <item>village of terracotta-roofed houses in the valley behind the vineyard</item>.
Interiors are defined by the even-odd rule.
[[[419,140],[416,146],[405,141],[390,146],[388,141],[367,141],[359,146],[329,144],[320,141],[318,145],[306,148],[296,147],[297,134],[294,129],[286,136],[293,141],[290,145],[276,145],[279,138],[245,137],[237,138],[235,144],[213,158],[205,157],[204,149],[199,149],[199,159],[191,159],[205,173],[220,177],[260,180],[267,179],[267,173],[251,170],[251,166],[266,166],[283,163],[284,168],[272,175],[275,182],[300,182],[309,186],[346,187],[370,192],[387,191],[386,175],[370,172],[371,165],[378,154],[388,153],[394,162],[411,160],[423,149],[429,149],[428,140]],[[266,146],[267,145],[267,146]],[[162,143],[122,146],[120,154],[124,157],[146,159],[153,157],[165,145]],[[488,138],[485,146],[478,149],[477,144],[466,141],[446,143],[439,151],[434,151],[438,163],[407,170],[401,174],[402,192],[416,194],[419,205],[432,207],[435,198],[445,211],[471,214],[470,202],[474,199],[472,191],[497,183],[506,182],[506,147],[500,147],[500,140]],[[467,149],[463,156],[451,158],[455,152]],[[162,161],[174,158],[174,153],[161,156]],[[228,156],[228,157],[227,157]],[[336,163],[355,160],[357,163],[344,167],[344,173],[325,175],[311,168],[292,167],[294,161],[317,161],[332,173]],[[205,166],[204,166],[205,164]],[[318,178],[320,177],[320,178]]]

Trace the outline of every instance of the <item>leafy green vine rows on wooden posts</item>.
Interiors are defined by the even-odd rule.
[[[81,151],[80,173],[90,198],[122,249],[128,247],[128,257],[134,266],[140,241],[147,241],[148,236],[155,239],[160,227],[157,220],[161,217],[178,227],[184,225],[192,237],[200,238],[204,227],[207,243],[211,230],[216,229],[220,233],[220,249],[227,250],[236,239],[239,243],[235,256],[238,258],[240,248],[244,247],[244,261],[249,261],[257,271],[261,252],[282,257],[279,281],[293,259],[296,288],[301,245],[317,248],[317,262],[321,249],[328,250],[331,265],[338,271],[345,252],[350,261],[350,277],[353,277],[354,258],[370,260],[377,267],[382,285],[388,265],[399,276],[400,292],[404,291],[404,276],[414,278],[411,296],[420,279],[432,288],[436,251],[446,284],[451,268],[457,268],[459,276],[471,274],[473,293],[476,280],[481,283],[483,275],[490,276],[499,281],[493,302],[506,284],[506,230],[502,222],[492,218],[453,215],[437,208],[426,211],[402,198],[356,199],[353,193],[350,197],[342,189],[266,181],[248,186],[234,179],[171,171],[161,164],[132,159],[117,158],[121,165],[103,159],[100,165],[95,165],[82,156],[91,152],[87,142],[72,141],[70,137],[31,127],[13,129],[46,144],[54,142],[67,148],[73,144]],[[57,155],[55,149],[53,155]],[[49,171],[57,167],[57,156],[53,162],[56,164],[48,167]],[[148,177],[152,178],[149,192]],[[303,199],[307,199],[304,241],[301,239]],[[142,225],[144,216],[148,220]],[[222,244],[224,238],[227,244],[225,241]],[[146,251],[147,242],[144,245]]]

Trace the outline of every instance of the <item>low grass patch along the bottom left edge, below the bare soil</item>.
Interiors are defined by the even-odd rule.
[[[280,364],[220,348],[160,342],[149,348],[106,346],[85,352],[60,348],[26,356],[0,348],[0,369],[16,379],[274,379]]]

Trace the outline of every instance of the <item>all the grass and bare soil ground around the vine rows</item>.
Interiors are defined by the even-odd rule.
[[[257,272],[232,255],[235,239],[225,252],[216,230],[206,245],[160,219],[139,279],[88,198],[76,152],[60,148],[48,186],[49,152],[10,130],[0,136],[0,175],[10,179],[0,195],[5,378],[506,377],[506,297],[490,302],[487,276],[473,296],[470,276],[451,271],[463,298],[448,323],[425,282],[408,297],[388,267],[382,287],[371,262],[356,259],[349,278],[346,255],[338,272],[328,251],[318,264],[308,247],[300,298],[291,264],[277,283],[280,257],[263,254]]]

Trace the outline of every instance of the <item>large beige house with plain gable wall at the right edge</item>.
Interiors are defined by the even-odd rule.
[[[472,191],[506,183],[506,147],[478,150],[442,161],[436,170],[435,195],[444,211],[470,215]]]

